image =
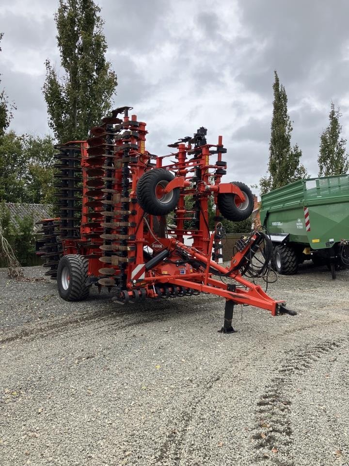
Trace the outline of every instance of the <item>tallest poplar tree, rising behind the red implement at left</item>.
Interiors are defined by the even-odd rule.
[[[60,142],[86,139],[111,109],[116,74],[106,61],[107,44],[100,8],[93,0],[60,0],[55,14],[62,79],[46,61],[43,93],[49,126]]]

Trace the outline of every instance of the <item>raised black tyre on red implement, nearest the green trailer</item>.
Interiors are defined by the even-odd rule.
[[[222,193],[218,194],[218,208],[223,217],[227,220],[232,220],[233,222],[241,222],[246,220],[254,209],[254,198],[251,189],[246,186],[245,183],[240,183],[235,181],[232,184],[236,184],[245,196],[245,202],[238,204],[235,199],[235,194],[232,193]]]

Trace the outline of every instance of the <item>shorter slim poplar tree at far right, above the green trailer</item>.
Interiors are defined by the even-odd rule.
[[[334,103],[331,102],[330,124],[320,136],[319,155],[317,158],[319,166],[318,176],[341,175],[348,172],[347,140],[340,137],[342,125],[339,123],[339,118],[341,116],[339,108],[335,109]]]

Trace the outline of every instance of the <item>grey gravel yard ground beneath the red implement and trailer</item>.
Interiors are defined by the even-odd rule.
[[[268,290],[297,316],[237,306],[225,335],[220,298],[69,303],[0,269],[0,465],[349,465],[348,279],[303,265]]]

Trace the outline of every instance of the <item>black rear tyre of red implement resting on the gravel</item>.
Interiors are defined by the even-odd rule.
[[[67,254],[57,270],[58,293],[63,300],[85,300],[90,292],[87,283],[88,259],[79,254]]]

